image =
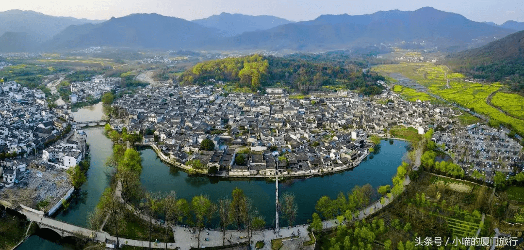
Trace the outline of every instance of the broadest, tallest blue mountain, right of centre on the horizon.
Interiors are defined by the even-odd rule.
[[[245,32],[224,39],[214,48],[331,50],[415,42],[422,48],[451,47],[459,50],[479,46],[493,37],[504,37],[511,32],[468,20],[459,14],[424,7],[369,15],[322,15],[311,21]]]

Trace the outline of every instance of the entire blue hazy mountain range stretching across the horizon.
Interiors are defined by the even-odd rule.
[[[25,34],[7,33],[5,37],[0,37],[0,45],[2,42],[28,44],[27,48],[34,48],[35,51],[90,46],[162,50],[319,51],[383,43],[461,50],[481,46],[515,31],[468,20],[459,14],[432,7],[414,11],[380,11],[368,15],[322,15],[301,22],[272,16],[227,13],[193,21],[158,14],[132,14],[99,23],[80,19],[73,21],[84,23],[69,26],[62,24],[64,28],[50,39],[46,35],[38,36],[42,32],[29,32],[32,29],[17,31],[29,32]],[[28,39],[31,41],[26,41]],[[0,51],[7,49],[13,51],[20,48],[0,46]]]

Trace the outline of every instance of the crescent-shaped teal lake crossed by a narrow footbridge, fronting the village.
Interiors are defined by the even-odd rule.
[[[367,183],[374,187],[391,184],[391,177],[397,172],[402,163],[402,156],[406,153],[407,142],[381,141],[378,154],[368,157],[352,171],[345,171],[323,177],[309,179],[288,179],[279,182],[280,195],[291,192],[295,195],[298,204],[298,217],[295,224],[305,224],[311,219],[315,204],[320,197],[328,195],[335,199],[339,192],[347,194],[355,185]],[[146,190],[153,192],[168,192],[175,190],[179,198],[188,201],[196,195],[205,194],[211,200],[217,201],[221,197],[231,196],[231,191],[241,188],[245,194],[253,199],[255,207],[266,218],[266,226],[275,225],[275,182],[266,179],[224,179],[189,175],[176,167],[169,167],[162,163],[155,151],[141,150],[143,170],[140,181]],[[371,159],[372,158],[372,159]],[[280,225],[287,222],[280,220]]]

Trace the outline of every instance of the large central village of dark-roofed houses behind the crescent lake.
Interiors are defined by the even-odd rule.
[[[370,134],[386,136],[393,126],[446,128],[459,115],[387,91],[378,99],[347,90],[302,99],[278,88],[268,92],[275,94],[224,95],[212,86],[145,88],[115,100],[127,117],[113,119],[111,126],[128,133],[154,130],[156,137],[146,135],[143,142],[183,167],[198,160],[228,176],[310,175],[358,165],[373,146]],[[204,139],[214,143],[213,151],[200,150]],[[239,155],[244,161],[235,161]]]

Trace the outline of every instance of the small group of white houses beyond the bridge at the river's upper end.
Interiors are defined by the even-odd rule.
[[[88,97],[94,99],[101,98],[106,92],[118,88],[122,82],[120,77],[104,77],[103,75],[96,75],[89,78],[85,82],[73,82],[71,84],[71,103],[82,101]]]

